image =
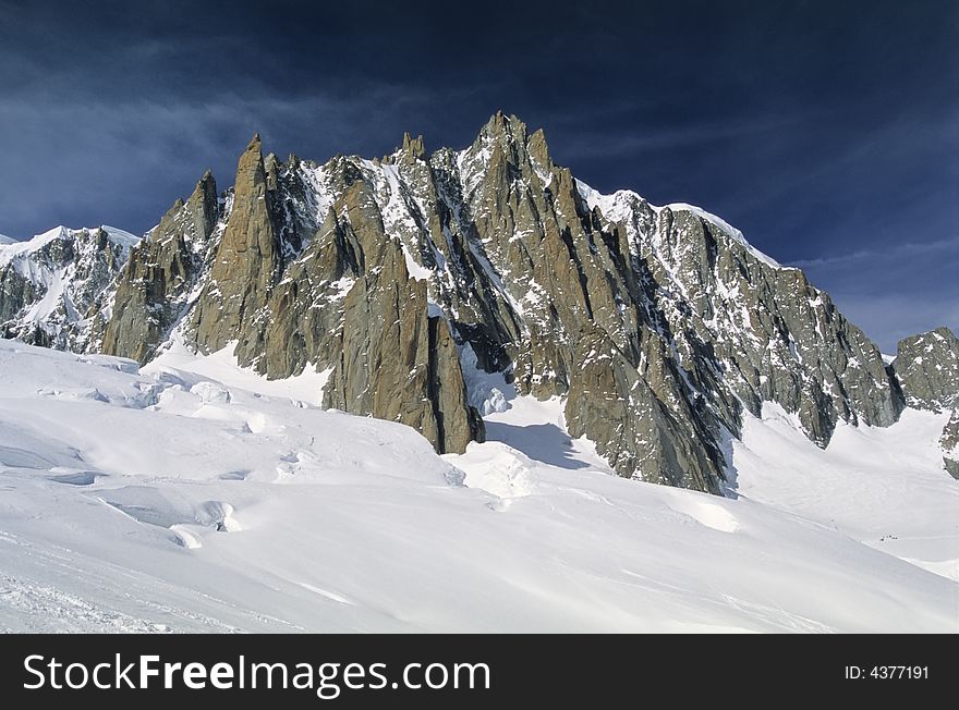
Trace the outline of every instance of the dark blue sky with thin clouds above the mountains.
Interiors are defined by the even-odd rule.
[[[502,109],[802,266],[887,352],[959,330],[959,3],[454,4],[0,0],[0,232],[143,232],[255,131],[321,161]]]

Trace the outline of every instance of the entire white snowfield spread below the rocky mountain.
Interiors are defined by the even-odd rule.
[[[0,629],[959,631],[945,415],[821,451],[766,407],[720,499],[609,475],[505,383],[438,456],[324,377],[0,341]]]

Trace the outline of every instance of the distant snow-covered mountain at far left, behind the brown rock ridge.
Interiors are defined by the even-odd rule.
[[[90,308],[110,298],[138,241],[107,225],[57,227],[26,242],[0,241],[0,334],[84,350]]]

